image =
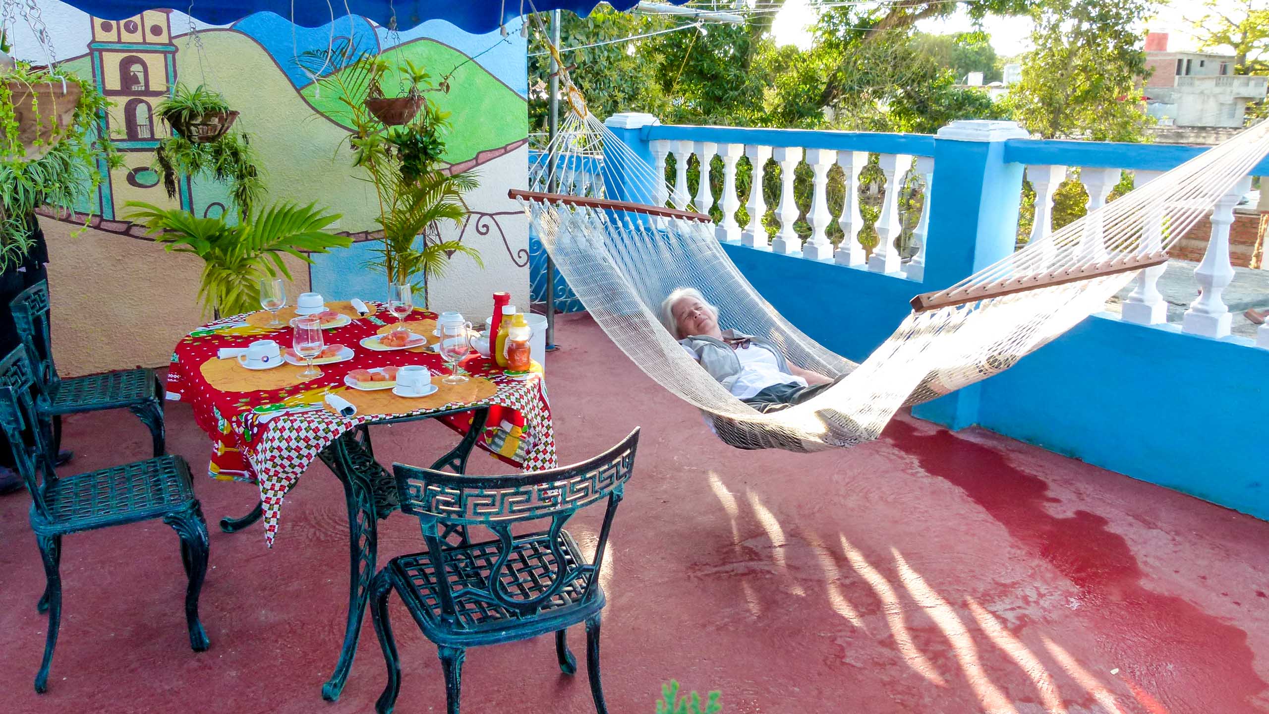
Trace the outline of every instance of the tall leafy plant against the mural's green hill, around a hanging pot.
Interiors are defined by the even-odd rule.
[[[374,185],[379,203],[376,222],[383,229],[378,257],[371,264],[383,269],[388,285],[412,282],[421,274],[426,306],[430,280],[444,273],[453,255],[470,257],[483,268],[473,246],[440,238],[442,224],[461,226],[466,220],[462,196],[477,187],[477,179],[439,169],[449,114],[426,100],[424,93],[435,90],[428,72],[409,60],[396,67],[405,95],[419,98],[421,108],[406,125],[390,127],[365,107],[365,99],[383,95],[383,81],[393,70],[387,58],[357,53],[343,42],[299,55],[296,62],[339,98],[340,118],[353,127],[348,136],[352,163]],[[440,89],[445,88],[442,83]]]

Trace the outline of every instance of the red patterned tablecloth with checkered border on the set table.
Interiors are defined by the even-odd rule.
[[[354,356],[346,362],[321,365],[322,376],[298,385],[279,389],[246,390],[242,386],[225,389],[213,386],[204,375],[203,366],[217,360],[222,347],[246,347],[256,339],[274,339],[283,348],[291,347],[291,329],[261,327],[260,320],[249,323],[249,315],[236,315],[204,325],[176,344],[168,370],[168,399],[188,403],[194,410],[194,421],[212,437],[209,474],[216,479],[255,482],[260,487],[264,504],[265,540],[272,546],[278,531],[282,499],[296,485],[299,475],[317,457],[317,452],[341,433],[367,422],[396,417],[425,414],[462,407],[448,403],[392,414],[354,414],[345,418],[322,408],[327,393],[348,390],[344,375],[357,368],[424,365],[433,375],[449,374],[439,354],[433,352],[377,352],[362,347],[363,338],[371,337],[392,324],[382,305],[374,315],[353,320],[350,324],[327,329],[326,343],[340,343],[353,348]],[[435,320],[437,315],[415,310],[407,320]],[[430,324],[428,325],[431,327]],[[418,330],[421,332],[421,330]],[[514,379],[503,374],[490,360],[472,352],[461,363],[473,375],[494,382],[497,391],[492,396],[472,401],[487,405],[489,419],[477,446],[495,457],[527,471],[556,466],[555,436],[551,427],[551,407],[547,401],[546,382],[541,372],[528,379]],[[209,365],[225,372],[226,365]],[[233,367],[241,370],[241,367]],[[273,371],[235,375],[246,380],[254,375]],[[263,379],[263,377],[261,377]],[[439,421],[459,433],[471,424],[470,413],[440,417]]]

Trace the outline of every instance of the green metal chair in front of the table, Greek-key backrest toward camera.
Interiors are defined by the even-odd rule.
[[[586,670],[595,710],[607,714],[599,680],[599,624],[604,591],[599,569],[613,515],[634,468],[636,428],[609,451],[581,464],[509,476],[464,476],[393,464],[401,511],[418,516],[424,553],[393,558],[374,577],[371,612],[379,635],[388,684],[376,703],[388,714],[401,689],[401,666],[388,595],[395,589],[423,634],[437,644],[445,673],[448,713],[458,714],[467,648],[556,635],[556,657],[566,675],[577,671],[569,650],[570,625],[586,623]],[[563,525],[572,515],[608,502],[594,562]],[[511,526],[549,521],[546,530],[513,535]],[[472,542],[470,529],[492,540]]]

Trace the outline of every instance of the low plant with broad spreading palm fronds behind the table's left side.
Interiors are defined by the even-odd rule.
[[[348,248],[352,239],[325,232],[340,219],[316,205],[279,203],[260,208],[237,225],[223,219],[199,219],[188,211],[129,201],[127,220],[146,227],[168,250],[203,259],[198,297],[213,315],[236,315],[256,307],[260,280],[291,278],[284,255],[312,263],[311,253]]]

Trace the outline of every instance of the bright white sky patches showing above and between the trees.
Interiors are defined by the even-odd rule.
[[[1171,0],[1162,5],[1156,17],[1142,29],[1169,33],[1167,48],[1170,51],[1197,50],[1197,43],[1189,34],[1189,23],[1183,18],[1183,9],[1195,5],[1198,5],[1195,0]],[[1194,10],[1190,9],[1189,13],[1194,14]],[[815,22],[815,10],[811,9],[807,0],[787,0],[772,24],[775,41],[780,44],[810,47],[811,33],[807,30],[807,25]],[[991,46],[996,55],[1010,57],[1032,48],[1030,24],[1028,18],[989,17],[983,20],[983,29],[991,36]],[[971,30],[973,23],[967,13],[959,10],[948,18],[923,20],[916,27],[923,32],[950,34]]]

